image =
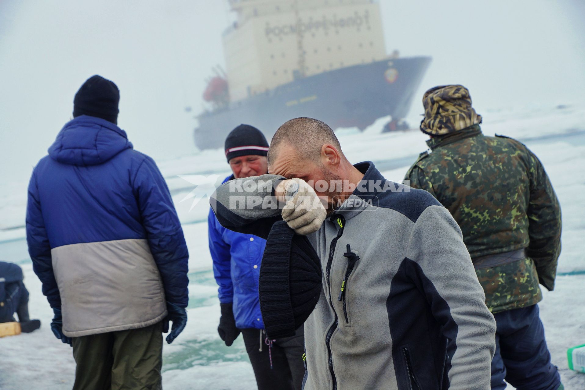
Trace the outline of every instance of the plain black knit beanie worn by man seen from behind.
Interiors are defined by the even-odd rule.
[[[113,81],[102,76],[91,76],[75,93],[73,117],[95,116],[112,123],[118,123],[118,102],[120,91]]]

